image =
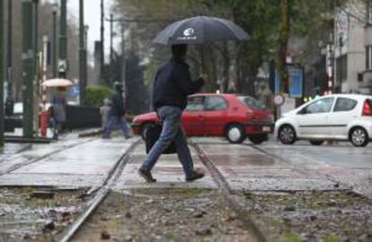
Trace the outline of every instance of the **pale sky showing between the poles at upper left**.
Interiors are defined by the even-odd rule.
[[[60,4],[60,0],[44,0],[50,3]],[[110,10],[113,0],[104,0],[104,12],[105,18],[110,17]],[[73,19],[78,25],[79,22],[79,0],[67,0],[67,17]],[[84,23],[89,26],[88,30],[88,50],[90,52],[89,56],[93,56],[94,51],[94,41],[101,39],[101,0],[84,0]],[[107,61],[107,56],[110,52],[110,22],[104,23],[104,46],[105,46],[105,56]],[[78,40],[77,40],[78,41]],[[117,41],[114,42],[117,45]],[[90,58],[90,62],[92,62]]]

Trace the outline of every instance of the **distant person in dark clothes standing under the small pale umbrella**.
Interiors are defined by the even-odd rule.
[[[66,123],[66,87],[57,87],[55,96],[52,98],[52,118],[54,122],[53,138],[58,139]]]

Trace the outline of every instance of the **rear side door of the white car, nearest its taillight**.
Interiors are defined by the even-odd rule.
[[[348,137],[348,124],[359,117],[356,113],[358,100],[339,97],[329,117],[329,128],[332,135],[339,138]]]

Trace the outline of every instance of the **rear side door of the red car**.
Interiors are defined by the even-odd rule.
[[[221,96],[208,96],[205,100],[204,132],[222,135],[226,126],[227,101]]]

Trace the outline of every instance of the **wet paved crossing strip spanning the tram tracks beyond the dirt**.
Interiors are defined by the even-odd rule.
[[[71,134],[72,135],[72,134]],[[100,186],[115,162],[139,137],[125,141],[118,137],[69,136],[58,143],[32,144],[21,153],[0,161],[0,186]],[[372,151],[341,143],[311,146],[306,143],[281,145],[275,142],[252,146],[230,144],[221,138],[191,138],[198,143],[233,189],[244,190],[332,190],[353,187],[372,194]],[[15,150],[15,149],[14,149]],[[204,169],[190,147],[195,168]],[[158,179],[148,185],[137,175],[146,157],[140,143],[131,154],[115,189],[146,186],[199,186],[216,188],[208,175],[185,183],[177,155],[163,155],[153,170]],[[352,160],[352,162],[350,161]]]

